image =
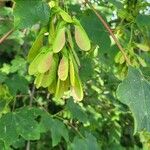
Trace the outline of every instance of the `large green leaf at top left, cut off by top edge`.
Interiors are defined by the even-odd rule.
[[[27,28],[40,23],[46,25],[49,21],[50,9],[41,0],[15,0],[14,24],[17,28]]]

